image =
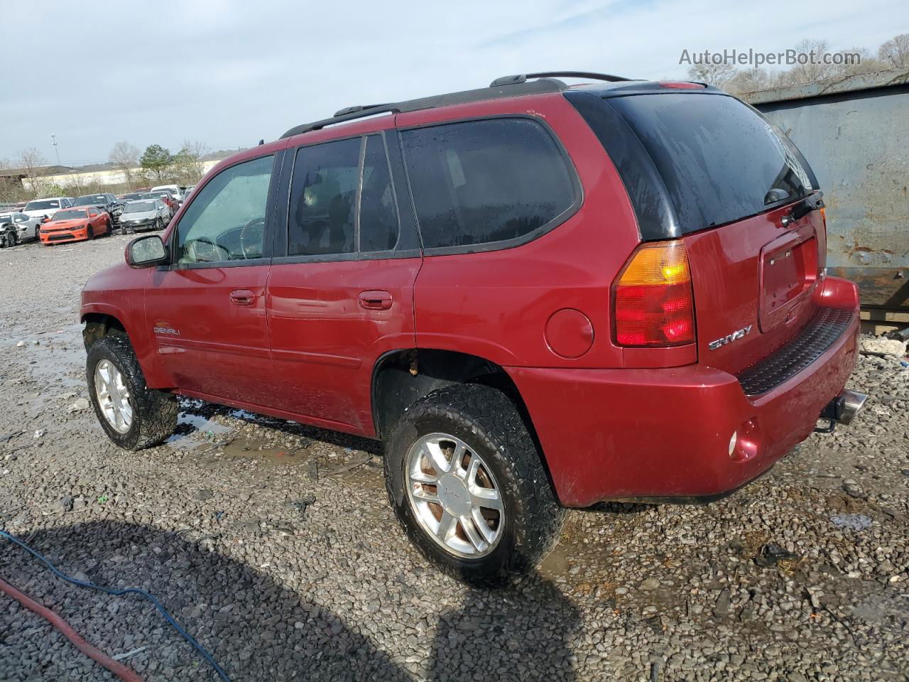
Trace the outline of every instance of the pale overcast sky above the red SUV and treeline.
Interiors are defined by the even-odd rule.
[[[904,0],[390,3],[6,0],[0,159],[64,165],[126,140],[250,146],[347,105],[543,70],[684,76],[683,49],[834,49],[909,31]],[[900,25],[900,22],[903,22]]]

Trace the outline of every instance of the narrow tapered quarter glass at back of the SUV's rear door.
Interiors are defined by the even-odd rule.
[[[398,241],[397,209],[382,135],[366,137],[360,194],[360,251],[390,251]]]

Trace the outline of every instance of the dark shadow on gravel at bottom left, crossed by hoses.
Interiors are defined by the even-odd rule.
[[[540,577],[499,590],[469,590],[463,606],[437,625],[429,618],[427,635],[435,629],[435,639],[428,666],[414,675],[362,634],[381,623],[342,619],[214,551],[205,538],[191,541],[153,527],[96,521],[45,528],[27,540],[71,577],[154,594],[235,682],[575,678],[569,643],[579,627],[578,612]],[[301,571],[305,574],[305,567]],[[0,577],[53,608],[108,655],[139,649],[124,662],[145,682],[217,679],[144,599],[65,583],[2,538]],[[421,615],[402,608],[416,626]],[[373,617],[381,618],[381,612]],[[0,679],[63,678],[114,679],[0,594]]]

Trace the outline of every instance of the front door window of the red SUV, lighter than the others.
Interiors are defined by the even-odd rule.
[[[205,184],[176,226],[176,262],[261,258],[274,156],[232,165]]]

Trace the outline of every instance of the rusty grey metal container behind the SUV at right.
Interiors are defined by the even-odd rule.
[[[824,191],[827,267],[862,305],[909,312],[909,69],[742,97],[792,137]]]

